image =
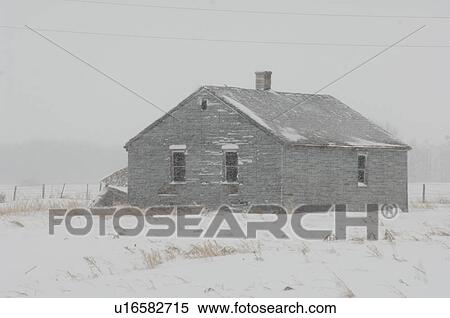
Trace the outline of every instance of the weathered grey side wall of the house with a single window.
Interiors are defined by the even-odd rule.
[[[357,155],[367,154],[367,187],[358,187]],[[398,204],[408,210],[407,151],[324,147],[287,147],[283,202],[347,204],[365,211],[365,204]]]

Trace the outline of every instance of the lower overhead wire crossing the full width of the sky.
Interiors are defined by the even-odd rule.
[[[0,25],[0,28],[26,30],[21,26]],[[91,32],[76,31],[54,28],[34,28],[41,32],[69,33],[88,36],[104,36],[104,37],[122,37],[134,39],[156,39],[156,40],[174,40],[174,41],[200,41],[200,42],[219,42],[219,43],[235,43],[235,44],[262,44],[262,45],[289,45],[289,46],[324,46],[324,47],[376,47],[385,48],[388,45],[375,43],[333,43],[333,42],[290,42],[290,41],[258,41],[258,40],[233,40],[233,39],[212,39],[212,38],[193,38],[193,37],[174,37],[161,35],[145,35],[131,33],[110,33],[110,32]],[[450,48],[450,45],[397,45],[402,48]]]

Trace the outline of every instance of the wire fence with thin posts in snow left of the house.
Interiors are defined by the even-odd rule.
[[[40,184],[33,186],[0,185],[0,202],[30,199],[92,200],[101,191],[101,184]]]

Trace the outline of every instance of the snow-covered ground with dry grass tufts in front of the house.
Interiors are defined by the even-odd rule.
[[[239,215],[239,222],[271,217]],[[308,218],[311,228],[332,223],[330,216]],[[118,236],[107,224],[106,236],[62,229],[50,236],[46,212],[0,215],[0,296],[450,297],[444,205],[382,220],[379,241],[360,230],[345,241],[268,233],[156,239]]]

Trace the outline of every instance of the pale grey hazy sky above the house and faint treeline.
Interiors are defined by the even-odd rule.
[[[108,0],[99,0],[108,1]],[[111,2],[127,3],[124,0]],[[448,15],[448,0],[184,0],[129,3],[238,10],[374,15]],[[0,25],[255,41],[450,45],[450,19],[349,18],[211,13],[63,0],[0,0]],[[169,110],[203,84],[314,92],[380,51],[103,37],[43,31],[57,43]],[[323,93],[395,126],[407,142],[450,135],[450,48],[393,48]],[[26,30],[0,28],[0,143],[89,140],[122,147],[161,115]]]

